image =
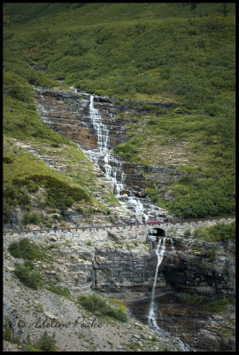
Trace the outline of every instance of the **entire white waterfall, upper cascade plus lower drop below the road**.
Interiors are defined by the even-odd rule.
[[[77,89],[74,89],[73,87],[71,89],[75,93],[79,94],[79,91]],[[48,99],[44,99],[42,95],[44,89],[40,88],[40,90],[39,89],[37,90],[39,92],[39,98],[41,100],[41,102],[38,102],[39,114],[41,114],[43,122],[52,124],[51,114],[49,113],[50,111],[54,113],[54,108],[50,109]],[[83,97],[85,98],[84,101],[89,100],[88,93],[83,92],[81,94],[83,94]],[[94,150],[84,151],[85,154],[89,156],[89,159],[94,164],[96,164],[97,167],[99,166],[98,164],[99,161],[101,162],[102,160],[104,161],[105,177],[112,180],[116,192],[116,197],[120,200],[120,204],[122,205],[122,207],[126,207],[127,213],[133,212],[138,221],[142,222],[144,218],[144,220],[147,222],[148,216],[144,213],[143,203],[140,201],[140,199],[136,198],[135,195],[130,191],[130,189],[127,188],[127,186],[125,185],[126,176],[122,169],[121,162],[118,161],[113,155],[110,154],[109,130],[107,129],[107,126],[104,125],[101,114],[99,114],[99,111],[94,107],[93,95],[90,96],[89,116],[92,125],[94,127],[94,130],[96,130],[97,148]],[[66,123],[58,123],[58,124],[66,125]],[[151,230],[150,233],[156,234],[157,230]],[[157,248],[158,264],[157,264],[157,269],[154,277],[152,295],[150,299],[150,312],[148,316],[149,326],[152,327],[155,330],[155,332],[158,333],[158,335],[161,335],[164,338],[167,336],[167,333],[166,331],[160,329],[160,327],[158,327],[157,324],[157,319],[162,319],[162,316],[161,313],[158,312],[155,304],[155,288],[156,288],[157,278],[158,278],[158,269],[160,264],[162,263],[164,252],[165,252],[165,242],[166,242],[166,237],[163,237],[158,241],[158,248]],[[171,243],[173,248],[173,240],[171,241]],[[93,274],[93,284],[95,284],[96,282],[96,279],[94,279],[94,277],[95,275]],[[175,338],[175,340],[176,343],[180,346],[182,351],[188,351],[188,348],[183,343],[181,343],[181,341],[178,338]]]

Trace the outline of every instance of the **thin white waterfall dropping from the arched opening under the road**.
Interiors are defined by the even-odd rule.
[[[157,246],[157,250],[156,250],[156,254],[158,256],[158,264],[156,267],[154,281],[153,281],[152,296],[151,296],[151,302],[150,302],[150,312],[149,312],[149,318],[148,318],[149,319],[149,326],[154,327],[158,331],[160,331],[160,328],[158,327],[158,324],[157,324],[158,312],[157,312],[156,305],[155,305],[154,295],[155,295],[155,288],[156,288],[157,278],[158,278],[158,269],[159,269],[160,264],[163,261],[165,248],[166,248],[166,237],[160,238],[160,240],[158,241],[158,246]],[[159,318],[162,318],[160,312],[159,312]]]

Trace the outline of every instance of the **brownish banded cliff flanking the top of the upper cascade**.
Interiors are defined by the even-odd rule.
[[[96,131],[89,116],[89,94],[37,88],[35,99],[43,122],[49,124],[53,130],[79,143],[83,149],[97,147]],[[95,96],[94,99],[95,108],[99,110],[109,129],[109,147],[125,142],[125,120],[116,119],[115,116],[126,107],[115,105],[108,98]]]

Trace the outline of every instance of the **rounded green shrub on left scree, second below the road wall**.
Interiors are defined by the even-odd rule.
[[[42,274],[41,272],[35,271],[35,267],[33,268],[32,264],[16,263],[14,273],[28,288],[39,288],[42,280]]]

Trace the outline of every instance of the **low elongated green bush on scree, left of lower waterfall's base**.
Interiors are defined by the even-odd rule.
[[[107,316],[121,322],[127,321],[127,313],[120,307],[112,307],[107,304],[103,297],[92,295],[81,295],[78,297],[78,303],[81,304],[87,311],[93,312],[97,316]]]

